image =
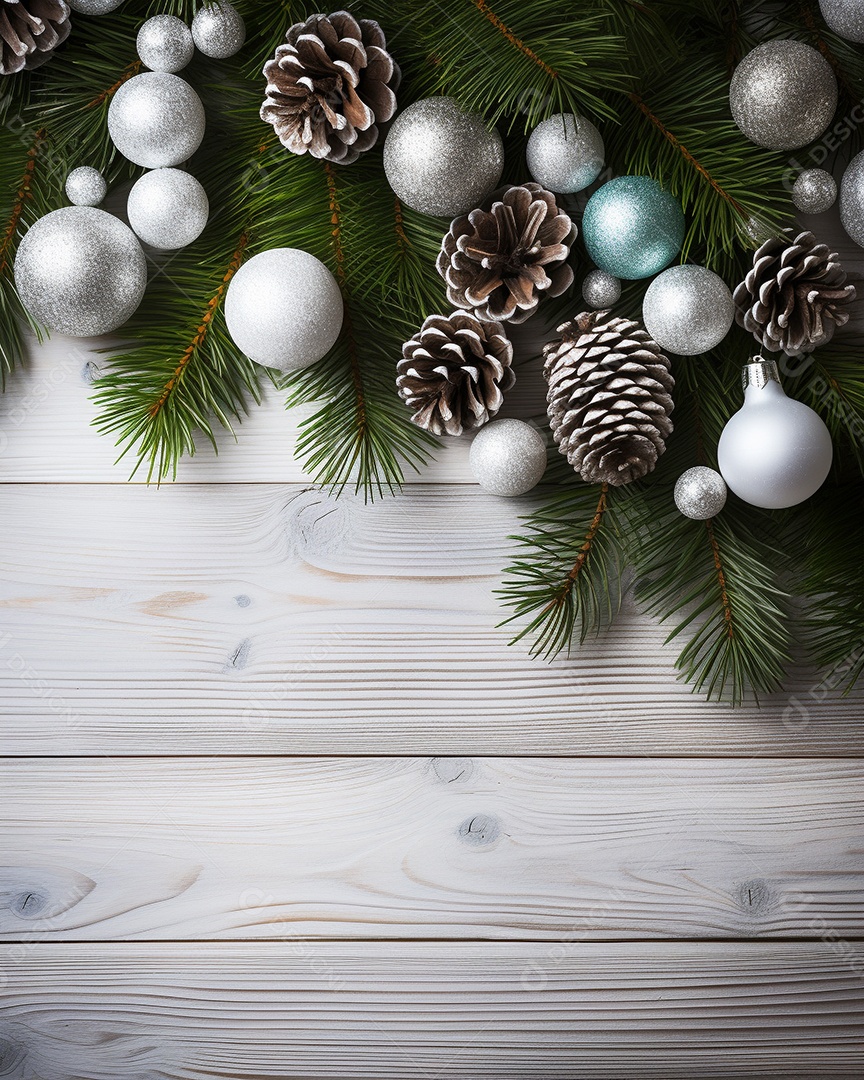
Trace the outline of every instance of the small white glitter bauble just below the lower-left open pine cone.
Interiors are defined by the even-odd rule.
[[[469,462],[489,495],[525,495],[546,471],[546,444],[524,420],[492,420],[474,436]]]

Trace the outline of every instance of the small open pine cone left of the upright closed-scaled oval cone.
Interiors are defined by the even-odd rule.
[[[516,381],[513,346],[500,323],[468,311],[430,315],[402,347],[400,396],[434,435],[461,435],[495,416]]]

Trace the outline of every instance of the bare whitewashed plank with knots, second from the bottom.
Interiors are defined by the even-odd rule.
[[[9,939],[864,933],[842,760],[5,761]]]

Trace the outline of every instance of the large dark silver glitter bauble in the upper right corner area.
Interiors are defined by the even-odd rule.
[[[729,105],[752,143],[797,150],[831,123],[837,80],[825,57],[802,41],[766,41],[735,68]]]

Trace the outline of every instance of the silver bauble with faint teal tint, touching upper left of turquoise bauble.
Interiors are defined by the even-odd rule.
[[[562,194],[581,191],[600,175],[606,160],[603,136],[584,117],[558,112],[531,132],[528,172],[544,188]]]

